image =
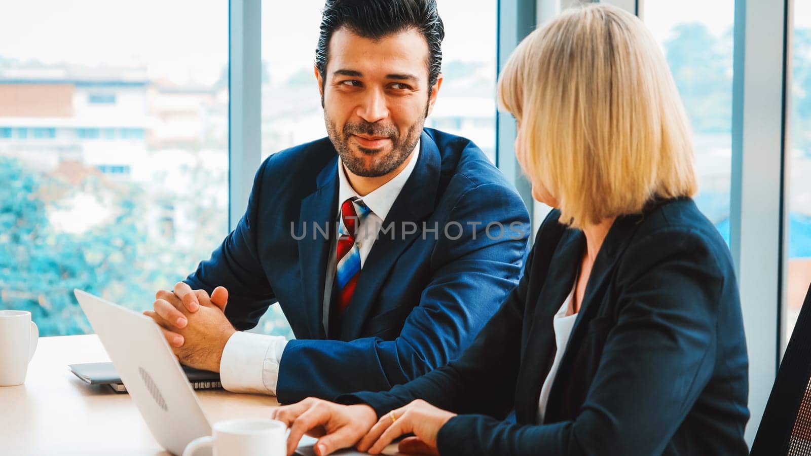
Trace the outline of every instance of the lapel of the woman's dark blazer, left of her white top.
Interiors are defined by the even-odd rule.
[[[566,230],[551,256],[524,352],[516,387],[516,418],[519,423],[533,423],[543,380],[555,355],[555,333],[552,319],[574,286],[574,278],[586,248],[579,230]]]

